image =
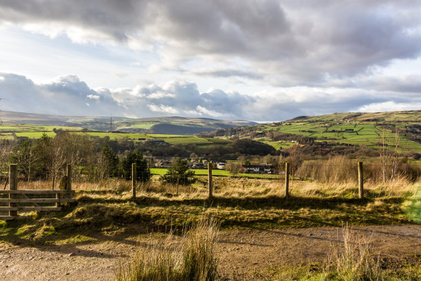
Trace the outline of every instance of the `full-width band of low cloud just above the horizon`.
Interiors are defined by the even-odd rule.
[[[421,96],[413,92],[341,87],[285,87],[253,94],[169,81],[162,85],[92,89],[78,76],[67,75],[37,84],[25,76],[0,73],[2,110],[80,116],[188,116],[252,121],[283,121],[300,115],[332,112],[418,110]],[[413,81],[413,79],[409,79]],[[400,84],[399,84],[400,83]]]

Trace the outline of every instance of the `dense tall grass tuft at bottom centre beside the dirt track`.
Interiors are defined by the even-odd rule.
[[[181,242],[170,235],[164,243],[138,251],[127,264],[120,263],[116,281],[213,281],[217,280],[215,220],[201,220]]]

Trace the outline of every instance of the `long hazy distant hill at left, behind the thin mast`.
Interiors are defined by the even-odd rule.
[[[0,112],[3,123],[81,127],[100,131],[110,130],[110,117],[103,116],[59,116],[24,112]],[[255,125],[250,121],[222,121],[211,118],[156,117],[127,118],[112,117],[112,130],[144,134],[199,134],[217,129],[241,125]]]

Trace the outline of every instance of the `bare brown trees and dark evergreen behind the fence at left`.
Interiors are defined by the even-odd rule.
[[[43,134],[37,140],[3,143],[1,164],[17,164],[19,172],[28,180],[58,178],[67,164],[73,167],[75,178],[100,180],[110,177],[129,178],[131,163],[136,163],[138,180],[149,180],[147,158],[136,149],[116,154],[106,141],[83,134],[62,133],[55,138]]]

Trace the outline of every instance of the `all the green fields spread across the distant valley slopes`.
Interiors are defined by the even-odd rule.
[[[195,121],[195,119],[191,119]],[[173,124],[182,125],[182,121],[172,120]],[[131,121],[120,121],[126,127],[147,128],[155,125],[155,121],[144,120],[142,123]],[[199,120],[195,123],[199,125]],[[384,126],[385,125],[385,126]],[[385,143],[389,149],[394,149],[396,145],[392,127],[404,130],[407,127],[421,125],[421,111],[412,112],[380,112],[380,113],[343,113],[326,114],[321,116],[301,116],[290,121],[279,123],[270,123],[255,125],[250,133],[288,133],[300,136],[309,136],[316,141],[327,141],[328,143],[345,145],[365,145],[373,149],[379,149],[381,143]],[[245,127],[247,128],[247,127]],[[43,133],[54,137],[54,129],[77,132],[91,137],[109,137],[111,140],[138,141],[138,138],[162,140],[172,145],[177,144],[196,144],[202,147],[213,145],[227,145],[231,141],[223,137],[201,138],[199,136],[186,136],[174,134],[139,134],[139,133],[116,133],[116,132],[98,132],[82,129],[80,127],[63,127],[31,124],[3,124],[0,126],[0,138],[11,140],[14,133],[17,137],[40,138]],[[345,130],[352,129],[352,132]],[[404,132],[404,131],[402,131]],[[398,139],[398,152],[416,152],[421,153],[421,143],[416,142],[415,138],[410,139],[407,134],[400,132]],[[241,135],[241,138],[248,138],[247,135]],[[255,141],[261,141],[272,145],[275,149],[284,149],[291,147],[296,142],[290,140],[273,141],[270,137],[259,136]],[[415,141],[413,141],[415,139]]]

